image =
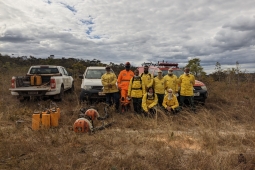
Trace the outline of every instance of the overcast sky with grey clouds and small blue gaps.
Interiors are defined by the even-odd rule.
[[[0,53],[255,72],[255,0],[0,0]]]

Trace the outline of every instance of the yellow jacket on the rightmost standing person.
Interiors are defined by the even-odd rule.
[[[181,96],[193,96],[193,86],[195,84],[195,77],[192,74],[182,74],[179,78],[181,86]]]

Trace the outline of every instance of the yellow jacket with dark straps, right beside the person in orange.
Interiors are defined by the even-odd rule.
[[[143,94],[145,94],[145,87],[141,77],[132,77],[128,86],[128,96],[142,98]]]

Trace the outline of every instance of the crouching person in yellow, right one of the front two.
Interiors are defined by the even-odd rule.
[[[173,94],[172,89],[167,90],[167,94],[164,97],[162,105],[167,112],[172,112],[173,114],[177,114],[180,111],[179,102],[177,100],[177,97]]]

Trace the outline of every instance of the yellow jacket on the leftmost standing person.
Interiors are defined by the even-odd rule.
[[[104,93],[114,93],[119,91],[116,86],[117,77],[114,73],[104,73],[101,77],[101,82],[104,86]],[[111,87],[108,85],[111,85]]]

